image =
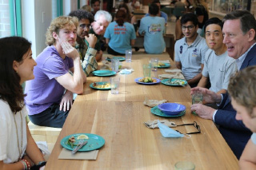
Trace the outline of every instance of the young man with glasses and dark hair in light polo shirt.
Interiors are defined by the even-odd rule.
[[[174,45],[176,66],[178,69],[182,69],[182,74],[190,87],[195,87],[202,77],[208,46],[205,38],[197,33],[198,18],[195,14],[184,14],[181,23],[182,33],[185,37]]]

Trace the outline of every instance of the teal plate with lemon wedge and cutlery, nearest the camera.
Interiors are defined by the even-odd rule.
[[[84,146],[82,146],[82,148],[80,148],[78,151],[93,151],[95,149],[98,149],[98,148],[102,148],[102,146],[105,144],[105,140],[103,139],[102,136],[98,136],[98,135],[94,135],[94,134],[91,134],[91,133],[76,133],[76,134],[73,134],[73,135],[69,135],[69,136],[66,136],[64,137],[62,140],[61,140],[61,144],[62,144],[62,147],[63,148],[66,148],[68,150],[71,150],[73,151],[74,147],[71,148],[71,145],[70,144],[67,144],[67,141],[69,140],[69,138],[71,136],[74,136],[75,138],[75,142],[74,144],[78,144],[79,140],[77,139],[78,136],[80,135],[86,135],[89,137],[89,139],[87,140],[88,143]]]

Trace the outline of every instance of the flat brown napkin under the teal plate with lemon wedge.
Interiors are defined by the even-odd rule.
[[[72,154],[70,150],[62,148],[62,152],[59,154],[59,160],[96,160],[98,156],[98,150],[88,152],[76,152]]]

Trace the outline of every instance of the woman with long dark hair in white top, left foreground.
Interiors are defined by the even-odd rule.
[[[22,83],[34,79],[31,43],[0,39],[0,169],[30,169],[46,162],[26,124]],[[36,164],[36,165],[34,165]]]

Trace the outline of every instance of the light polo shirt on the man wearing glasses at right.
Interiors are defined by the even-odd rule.
[[[208,46],[205,38],[199,34],[191,45],[186,43],[186,38],[182,38],[175,43],[175,61],[182,63],[182,74],[186,81],[201,73],[201,64],[204,64]]]

